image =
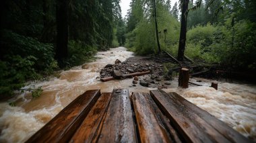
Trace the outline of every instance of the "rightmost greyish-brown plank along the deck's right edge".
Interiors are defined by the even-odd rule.
[[[185,98],[181,97],[181,95],[178,95],[177,93],[168,93],[168,94],[171,97],[173,97],[175,100],[179,101],[182,105],[185,105],[187,109],[199,115],[199,117],[201,117],[203,120],[205,120],[205,122],[210,124],[212,128],[215,128],[220,134],[225,136],[231,142],[252,142],[248,138],[245,138],[245,136],[239,134],[234,129],[230,128],[230,126],[228,126],[224,122],[218,120],[216,117],[214,117],[207,111],[187,101]]]

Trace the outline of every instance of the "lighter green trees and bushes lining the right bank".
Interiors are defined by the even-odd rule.
[[[172,8],[169,0],[133,0],[125,45],[137,54],[158,53],[161,48],[181,61],[186,54],[194,60],[255,70],[255,7],[253,0],[181,0]]]

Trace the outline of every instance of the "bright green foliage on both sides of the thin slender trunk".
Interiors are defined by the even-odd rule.
[[[177,44],[179,40],[179,21],[175,19],[172,15],[170,15],[168,9],[166,9],[166,5],[163,3],[158,3],[158,31],[160,45],[162,49],[168,50],[172,47],[173,44]],[[142,7],[142,5],[141,5]],[[137,8],[137,7],[136,7]],[[140,9],[140,8],[139,8]],[[135,8],[132,8],[131,11],[136,11]],[[139,10],[137,10],[139,11]],[[152,9],[148,9],[148,11],[152,11]],[[139,15],[138,13],[134,13],[131,15]],[[132,17],[130,17],[132,20]],[[129,19],[128,19],[129,23]],[[156,32],[154,19],[150,16],[144,16],[135,26],[131,32],[126,34],[126,44],[125,46],[129,48],[131,51],[136,52],[137,54],[154,54],[157,52],[156,45]],[[129,25],[128,25],[129,26]],[[129,27],[128,27],[129,28]],[[164,30],[167,30],[166,40]]]

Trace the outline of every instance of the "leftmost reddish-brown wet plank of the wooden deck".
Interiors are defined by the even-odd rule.
[[[100,97],[100,90],[86,91],[26,142],[67,142]]]

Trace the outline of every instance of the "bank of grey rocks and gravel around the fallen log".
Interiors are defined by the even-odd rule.
[[[143,56],[134,56],[123,62],[117,59],[115,64],[106,64],[106,66],[100,70],[100,77],[115,77],[113,73],[125,75],[148,70],[150,70],[149,75],[133,77],[134,80],[131,83],[131,87],[136,87],[138,84],[143,87],[157,87],[158,89],[168,88],[170,86],[172,75],[168,72],[164,72],[164,63],[155,58]]]

